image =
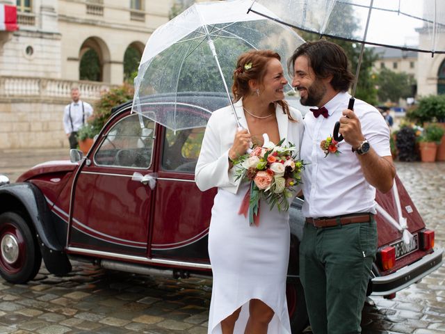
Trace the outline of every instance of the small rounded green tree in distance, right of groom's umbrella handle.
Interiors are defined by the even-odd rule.
[[[378,99],[380,102],[398,102],[412,96],[413,79],[405,72],[396,73],[382,68],[377,75]]]

